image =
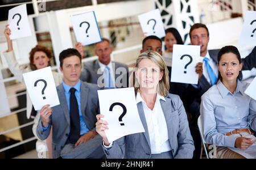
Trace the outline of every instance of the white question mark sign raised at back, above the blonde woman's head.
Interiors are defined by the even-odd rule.
[[[155,35],[159,38],[166,36],[159,9],[141,14],[138,18],[145,36]]]

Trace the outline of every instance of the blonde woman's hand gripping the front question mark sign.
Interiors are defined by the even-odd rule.
[[[102,117],[104,117],[103,114],[97,114],[96,115],[96,118],[97,118],[96,131],[97,131],[98,134],[101,135],[101,137],[104,141],[104,145],[109,146],[110,143],[109,143],[108,138],[106,137],[106,134],[105,134],[105,130],[109,129],[108,126],[107,126],[108,122],[106,122],[104,120],[101,120]]]

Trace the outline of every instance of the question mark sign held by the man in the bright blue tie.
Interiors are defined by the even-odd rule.
[[[174,45],[171,82],[197,84],[197,62],[202,62],[199,45]]]

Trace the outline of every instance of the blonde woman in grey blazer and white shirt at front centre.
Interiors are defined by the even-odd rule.
[[[96,131],[101,135],[107,158],[192,158],[193,139],[180,97],[168,94],[168,69],[160,54],[139,55],[135,69],[135,94],[144,133],[126,135],[114,142],[106,138],[108,122],[97,114]]]

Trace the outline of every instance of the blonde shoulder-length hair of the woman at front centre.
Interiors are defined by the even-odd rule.
[[[146,51],[139,55],[139,57],[136,60],[136,65],[133,70],[133,74],[129,80],[129,82],[130,82],[129,86],[134,87],[135,94],[137,94],[140,86],[139,86],[138,79],[135,76],[135,71],[138,69],[139,63],[142,61],[142,59],[150,59],[152,62],[154,62],[160,68],[160,71],[163,71],[163,73],[164,73],[163,77],[158,83],[158,93],[161,96],[166,96],[170,89],[169,76],[168,76],[169,71],[167,69],[166,63],[163,60],[163,57],[160,54],[153,52],[153,51]],[[133,83],[133,79],[134,79],[134,83]]]

